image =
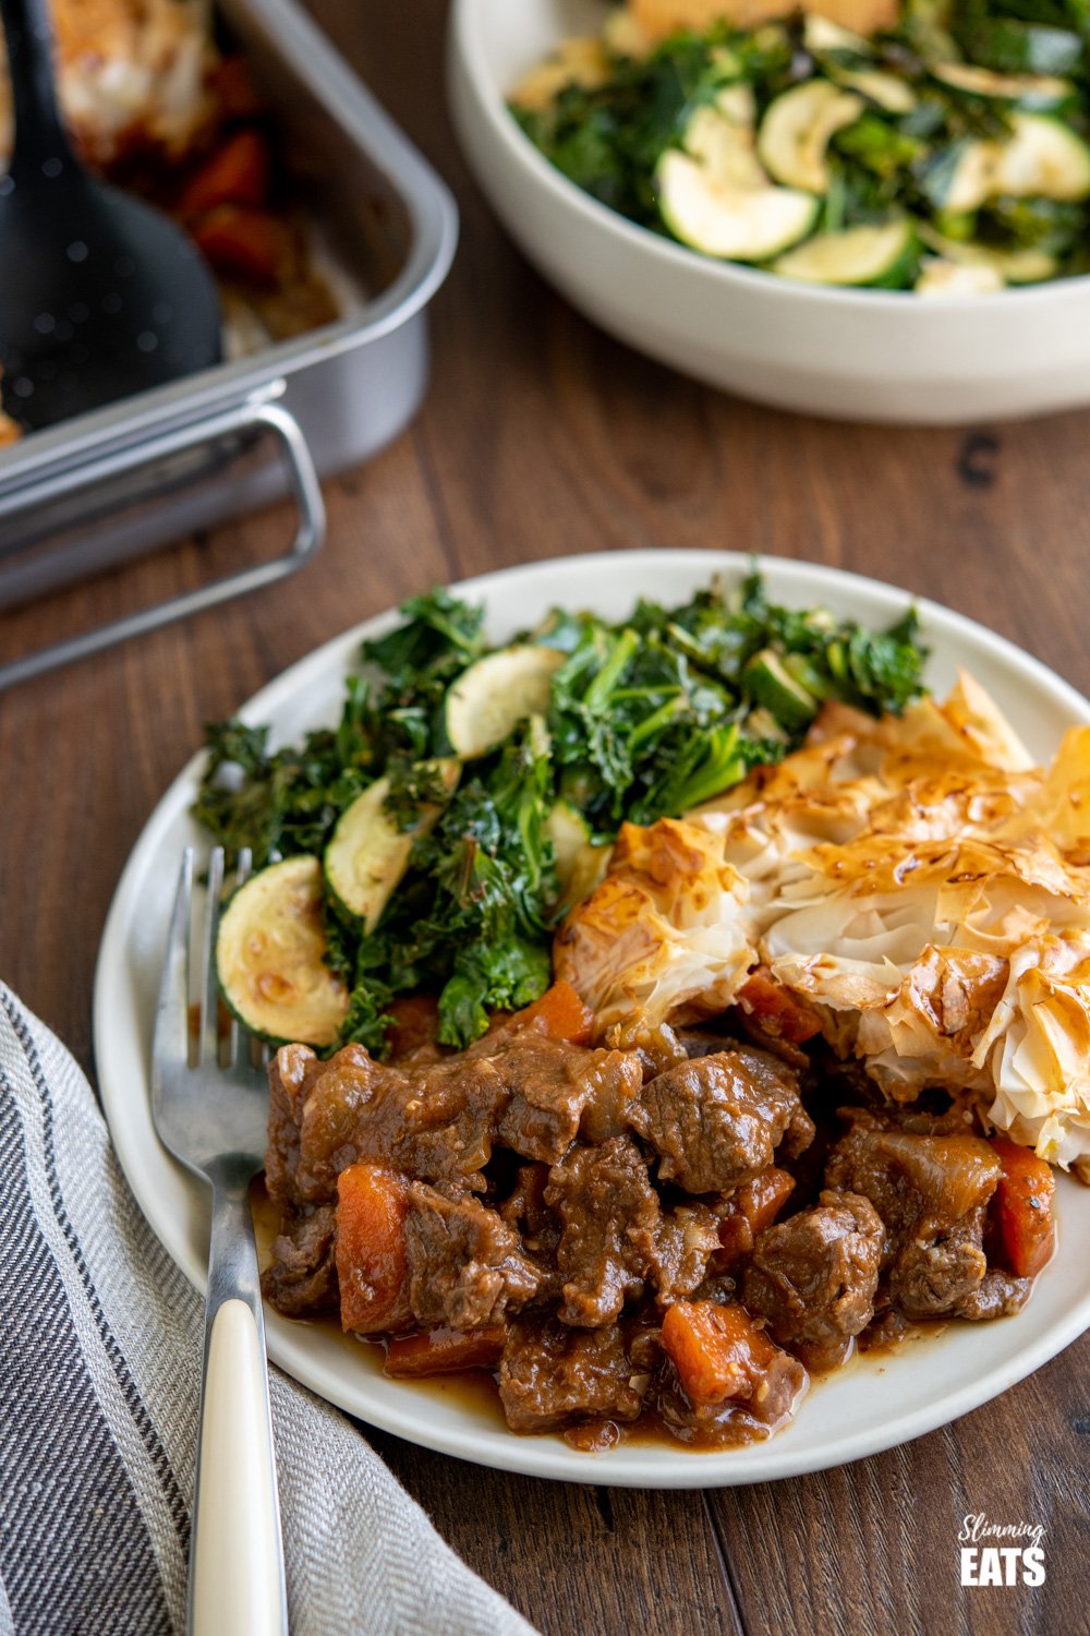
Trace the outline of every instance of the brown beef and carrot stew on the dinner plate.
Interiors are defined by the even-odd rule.
[[[878,1108],[820,1044],[739,1034],[595,1049],[569,993],[459,1054],[283,1047],[266,1296],[394,1378],[492,1373],[513,1432],[579,1448],[766,1438],[856,1343],[1025,1304],[967,1108]]]

